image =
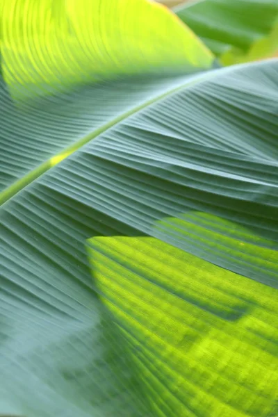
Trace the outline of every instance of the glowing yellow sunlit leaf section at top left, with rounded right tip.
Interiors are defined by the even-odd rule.
[[[147,0],[10,0],[0,24],[13,97],[120,74],[192,72],[213,60],[175,15]]]

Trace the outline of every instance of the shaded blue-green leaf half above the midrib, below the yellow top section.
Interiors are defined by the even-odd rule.
[[[18,108],[2,79],[1,204],[101,131],[190,81],[188,76],[119,79]]]

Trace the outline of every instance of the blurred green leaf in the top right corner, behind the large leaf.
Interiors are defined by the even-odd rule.
[[[223,65],[278,51],[277,0],[199,0],[174,10]]]

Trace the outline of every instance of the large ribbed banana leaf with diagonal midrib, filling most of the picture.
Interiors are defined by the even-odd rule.
[[[4,52],[0,414],[277,414],[278,61],[194,47],[63,91]]]

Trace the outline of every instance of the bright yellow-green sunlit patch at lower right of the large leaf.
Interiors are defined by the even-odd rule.
[[[93,279],[155,415],[277,414],[274,288],[155,238],[88,244]]]

